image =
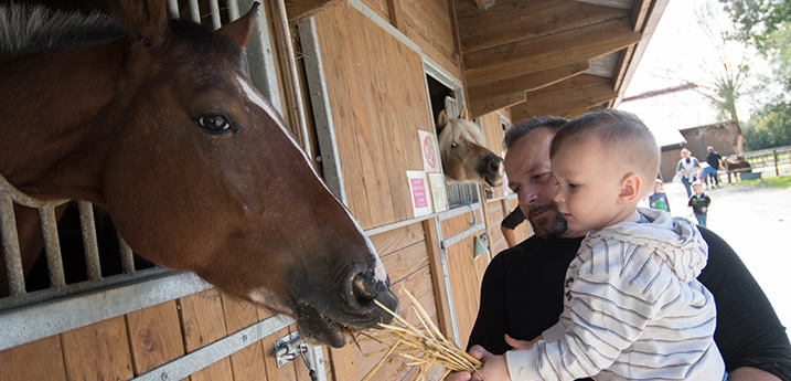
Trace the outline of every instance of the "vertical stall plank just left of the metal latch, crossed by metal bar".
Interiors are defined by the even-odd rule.
[[[257,308],[249,301],[223,295],[223,311],[228,334],[247,328],[258,321]],[[267,380],[264,364],[264,347],[260,341],[254,342],[238,352],[231,354],[231,369],[234,380]]]

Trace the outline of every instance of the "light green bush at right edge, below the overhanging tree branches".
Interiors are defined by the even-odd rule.
[[[745,150],[791,146],[791,104],[778,102],[752,114],[744,128]]]

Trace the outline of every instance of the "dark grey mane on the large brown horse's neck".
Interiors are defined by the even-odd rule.
[[[64,12],[44,6],[0,4],[0,56],[26,50],[111,40],[120,24],[100,11]]]

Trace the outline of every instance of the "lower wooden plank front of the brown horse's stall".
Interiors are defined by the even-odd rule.
[[[210,289],[0,351],[0,380],[128,380],[271,316]],[[281,329],[189,379],[310,380],[302,363],[277,368],[272,356],[275,340],[293,330]]]

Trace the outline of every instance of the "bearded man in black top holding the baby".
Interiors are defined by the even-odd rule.
[[[563,311],[566,269],[586,234],[568,230],[552,201],[557,183],[549,172],[549,142],[565,121],[557,117],[532,119],[506,133],[509,187],[536,235],[503,251],[487,268],[481,307],[468,345],[478,358],[524,346],[520,340],[542,335]],[[714,339],[728,379],[791,380],[791,343],[766,295],[725,241],[704,227],[701,232],[709,256],[698,281],[717,304]],[[446,380],[470,378],[469,373],[453,373]]]

